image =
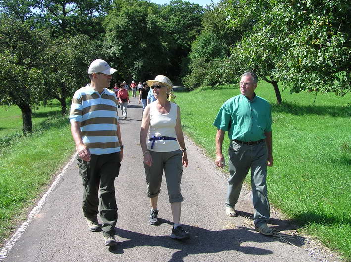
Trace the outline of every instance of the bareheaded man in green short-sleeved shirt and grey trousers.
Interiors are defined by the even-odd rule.
[[[213,125],[216,134],[216,165],[223,168],[222,144],[228,131],[229,173],[225,212],[236,217],[235,204],[245,176],[251,169],[255,229],[264,235],[273,235],[267,226],[269,201],[267,194],[267,166],[273,166],[272,114],[270,104],[257,96],[257,75],[246,72],[240,80],[241,94],[227,100],[220,108]]]

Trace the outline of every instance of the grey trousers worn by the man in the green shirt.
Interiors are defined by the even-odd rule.
[[[241,187],[246,175],[251,169],[251,187],[253,207],[255,209],[253,222],[255,225],[266,223],[269,219],[269,201],[267,193],[267,157],[268,150],[265,142],[256,145],[238,144],[231,141],[229,146],[229,173],[227,207],[235,207],[238,202]]]

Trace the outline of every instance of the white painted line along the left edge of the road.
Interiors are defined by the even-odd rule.
[[[5,247],[1,249],[0,252],[0,262],[3,261],[8,254],[10,253],[11,249],[13,246],[16,244],[17,240],[23,235],[23,233],[26,231],[27,227],[30,225],[32,222],[34,216],[42,209],[44,206],[45,202],[48,200],[50,194],[52,191],[55,189],[57,186],[58,182],[60,179],[63,177],[63,175],[66,173],[68,167],[73,163],[73,161],[76,159],[77,153],[73,155],[71,160],[66,164],[66,166],[63,168],[61,173],[57,175],[55,181],[52,183],[48,191],[45,192],[45,194],[42,196],[42,198],[39,200],[38,205],[35,206],[32,211],[28,215],[28,219],[20,226],[20,228],[17,229],[16,233],[11,237],[11,239],[7,242]]]

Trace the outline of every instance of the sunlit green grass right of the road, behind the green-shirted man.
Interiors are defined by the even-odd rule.
[[[216,128],[212,123],[224,101],[239,93],[228,85],[176,94],[184,131],[213,159]],[[278,105],[270,84],[260,82],[256,93],[273,108],[274,167],[267,177],[271,203],[351,260],[350,94],[319,94],[313,104],[313,94],[284,91],[284,103]],[[226,133],[224,155],[228,144]]]

